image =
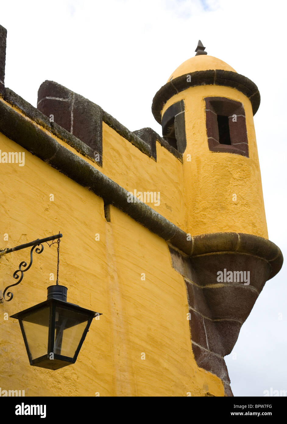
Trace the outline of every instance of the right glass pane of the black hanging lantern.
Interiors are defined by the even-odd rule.
[[[91,315],[56,307],[54,353],[73,358]]]

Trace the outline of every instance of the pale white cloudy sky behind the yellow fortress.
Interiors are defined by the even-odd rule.
[[[131,131],[151,127],[169,75],[206,51],[257,84],[254,117],[269,239],[287,257],[286,12],[283,0],[1,2],[8,30],[5,86],[36,106],[48,79],[99,104]],[[287,390],[286,267],[266,283],[226,364],[235,396]],[[282,320],[279,320],[282,313]]]

